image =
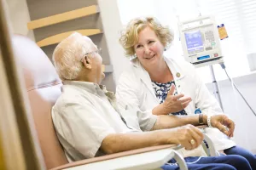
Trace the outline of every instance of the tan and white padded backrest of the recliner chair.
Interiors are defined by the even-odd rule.
[[[49,169],[66,164],[67,158],[51,118],[51,108],[61,95],[61,80],[54,65],[35,42],[19,35],[12,37],[12,42],[15,56],[23,70],[45,165]]]

